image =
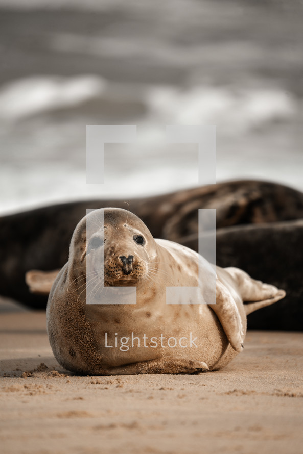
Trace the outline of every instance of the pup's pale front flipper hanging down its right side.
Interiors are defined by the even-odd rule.
[[[234,350],[243,350],[244,331],[242,320],[235,299],[228,288],[217,279],[216,304],[210,304],[225,331],[227,339]]]

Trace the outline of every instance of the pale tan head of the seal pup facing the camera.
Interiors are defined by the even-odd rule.
[[[120,208],[91,211],[75,229],[69,261],[74,279],[98,276],[104,286],[135,286],[157,267],[156,242],[146,225]]]

